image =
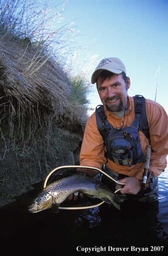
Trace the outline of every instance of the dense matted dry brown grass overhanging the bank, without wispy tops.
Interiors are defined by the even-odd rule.
[[[51,55],[50,41],[40,43],[30,38],[33,37],[26,34],[20,37],[8,29],[0,31],[0,127],[3,134],[8,131],[12,140],[15,124],[24,142],[25,132],[27,141],[36,133],[49,141],[56,125],[83,131],[87,120],[83,104],[87,102],[87,91],[82,104],[74,100],[74,81],[68,71],[64,71],[56,52]]]

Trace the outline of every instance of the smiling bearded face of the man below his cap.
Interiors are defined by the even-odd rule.
[[[127,83],[124,82],[122,74],[114,74],[109,80],[106,79],[103,83],[98,79],[98,94],[101,102],[111,112],[119,112],[127,106],[127,90],[130,87],[130,79]]]

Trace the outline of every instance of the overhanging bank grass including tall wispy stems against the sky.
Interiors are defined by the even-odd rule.
[[[16,128],[24,143],[49,141],[56,125],[84,129],[88,83],[64,70],[76,31],[63,20],[47,2],[0,0],[0,129],[9,141]]]

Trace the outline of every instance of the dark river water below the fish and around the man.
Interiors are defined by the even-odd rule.
[[[30,213],[28,205],[43,184],[0,208],[2,255],[168,255],[168,168],[159,177],[159,202],[127,200],[121,210],[103,203]]]

